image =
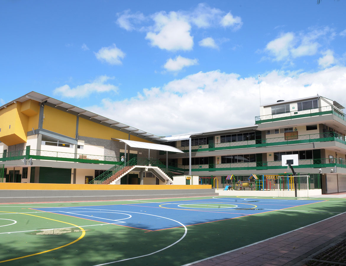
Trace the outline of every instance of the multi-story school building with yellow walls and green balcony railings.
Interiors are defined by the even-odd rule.
[[[343,109],[319,95],[279,100],[260,106],[251,126],[160,137],[30,92],[0,107],[0,182],[174,184],[187,175],[192,184],[193,175],[223,187],[228,175],[291,173],[281,158],[297,154],[295,172],[310,175],[311,188],[344,192]]]

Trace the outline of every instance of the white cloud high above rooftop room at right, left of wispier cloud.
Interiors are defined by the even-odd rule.
[[[281,61],[288,57],[293,46],[294,34],[289,32],[282,34],[279,38],[272,40],[266,46],[266,50],[275,56],[275,61]]]

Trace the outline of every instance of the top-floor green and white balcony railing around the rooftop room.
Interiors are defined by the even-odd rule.
[[[300,110],[300,111],[291,111],[288,113],[280,113],[280,114],[267,114],[264,116],[256,116],[255,123],[267,123],[267,122],[275,122],[281,120],[289,120],[289,119],[297,119],[303,117],[312,117],[312,116],[322,116],[324,114],[334,114],[335,116],[346,121],[346,114],[337,109],[334,106],[323,106],[313,109]]]

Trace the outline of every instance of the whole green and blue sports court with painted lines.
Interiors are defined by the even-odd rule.
[[[343,212],[344,198],[1,204],[0,266],[179,266]]]

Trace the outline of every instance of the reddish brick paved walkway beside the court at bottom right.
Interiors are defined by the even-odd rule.
[[[346,232],[346,213],[272,239],[240,248],[200,262],[195,266],[291,266],[326,246],[333,246]],[[343,238],[345,239],[345,238]],[[340,242],[341,240],[339,240]],[[336,245],[336,243],[334,244]],[[320,251],[322,252],[322,251]]]

